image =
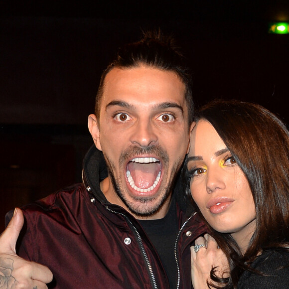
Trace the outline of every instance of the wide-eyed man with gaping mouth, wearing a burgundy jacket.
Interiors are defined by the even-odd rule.
[[[191,93],[171,38],[150,32],[119,50],[88,119],[83,183],[22,208],[17,253],[51,270],[48,288],[191,288],[190,245],[206,230],[178,177]],[[50,281],[42,269],[30,274],[34,287]]]

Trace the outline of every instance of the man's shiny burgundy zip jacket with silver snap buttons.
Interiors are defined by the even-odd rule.
[[[26,221],[17,253],[52,271],[48,288],[168,289],[162,264],[139,222],[101,192],[99,182],[106,176],[103,155],[93,146],[84,160],[83,183],[22,208]],[[206,227],[179,202],[177,212],[175,288],[190,289],[190,244]]]

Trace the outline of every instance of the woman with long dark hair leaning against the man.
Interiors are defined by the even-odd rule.
[[[213,101],[199,111],[186,167],[188,194],[211,230],[191,250],[194,288],[289,288],[284,123],[259,105]],[[220,250],[227,268],[215,266]]]

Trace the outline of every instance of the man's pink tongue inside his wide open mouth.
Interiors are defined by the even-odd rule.
[[[160,171],[160,163],[130,162],[128,164],[128,169],[131,172],[135,185],[141,189],[147,189],[153,185],[153,182]]]

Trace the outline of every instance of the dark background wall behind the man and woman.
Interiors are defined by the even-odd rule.
[[[1,220],[81,181],[102,70],[142,29],[175,36],[197,105],[237,98],[289,123],[289,34],[268,33],[289,21],[288,0],[91,2],[0,0]]]

